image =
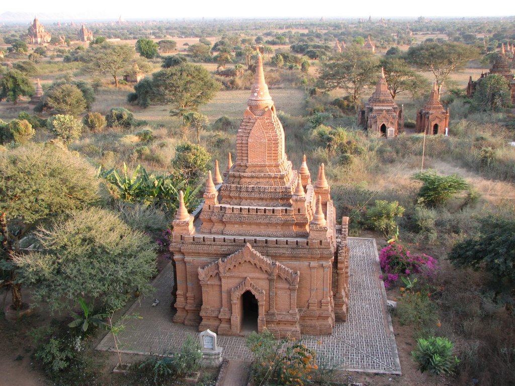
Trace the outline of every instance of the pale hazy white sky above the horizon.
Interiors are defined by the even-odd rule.
[[[79,6],[80,4],[80,6]],[[205,17],[205,19],[225,17],[362,17],[373,19],[379,17],[418,17],[418,16],[510,16],[502,14],[509,7],[491,9],[488,3],[472,0],[457,2],[449,0],[433,0],[430,2],[416,0],[397,1],[264,1],[251,0],[168,0],[158,2],[147,1],[109,1],[85,0],[71,2],[69,0],[24,0],[18,2],[2,1],[0,14],[6,11],[31,12],[34,14],[60,13],[73,15],[79,19],[101,18],[118,19],[177,19],[182,17]],[[428,7],[427,5],[431,5]],[[512,12],[512,14],[515,14]]]

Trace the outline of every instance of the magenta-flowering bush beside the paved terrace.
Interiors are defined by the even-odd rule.
[[[399,242],[390,242],[379,253],[379,262],[383,275],[385,288],[397,282],[400,276],[409,276],[415,273],[431,275],[436,269],[436,260],[426,255],[411,255]]]

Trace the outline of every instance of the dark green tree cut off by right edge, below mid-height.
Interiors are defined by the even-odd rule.
[[[479,219],[477,233],[454,244],[448,257],[458,267],[491,275],[496,294],[515,288],[515,221],[501,216]]]

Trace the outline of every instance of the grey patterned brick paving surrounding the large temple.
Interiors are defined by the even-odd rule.
[[[339,370],[401,374],[397,345],[390,315],[386,310],[386,293],[379,279],[379,258],[375,240],[349,238],[350,305],[347,322],[337,322],[332,335],[303,336],[302,342],[317,350],[319,364]],[[171,264],[158,275],[152,298],[135,302],[128,314],[138,313],[119,336],[122,351],[132,354],[177,352],[186,335],[198,337],[198,329],[171,322]],[[159,300],[152,307],[154,298]],[[244,337],[218,337],[224,358],[251,361],[252,354]],[[111,336],[106,336],[98,350],[113,350]]]

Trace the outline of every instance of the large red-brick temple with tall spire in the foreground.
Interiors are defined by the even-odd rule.
[[[336,210],[324,165],[313,183],[294,170],[261,55],[224,177],[215,164],[203,203],[173,221],[174,322],[243,335],[330,334],[348,307],[348,218]]]

